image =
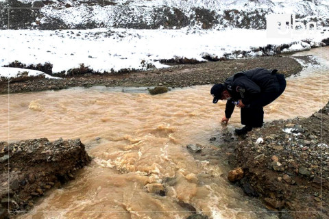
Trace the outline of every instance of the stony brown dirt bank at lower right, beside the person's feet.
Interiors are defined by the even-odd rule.
[[[329,103],[309,118],[275,120],[235,142],[232,131],[224,131],[227,142],[218,150],[243,170],[236,185],[280,211],[280,218],[328,218],[328,121]]]

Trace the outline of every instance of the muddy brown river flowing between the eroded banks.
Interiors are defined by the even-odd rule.
[[[265,120],[306,117],[329,99],[329,49],[315,55],[321,66],[287,79],[287,89],[265,107]],[[226,179],[225,161],[197,160],[186,144],[215,146],[225,102],[212,103],[211,86],[174,89],[151,96],[139,88],[72,88],[0,96],[0,139],[80,138],[93,161],[75,181],[36,203],[21,218],[186,218],[178,204],[210,218],[277,218]],[[8,115],[9,110],[9,115]],[[239,109],[228,125],[241,127]],[[9,119],[9,120],[8,120]],[[8,129],[9,126],[9,129]],[[224,173],[224,175],[223,175]],[[147,184],[173,177],[166,196]]]

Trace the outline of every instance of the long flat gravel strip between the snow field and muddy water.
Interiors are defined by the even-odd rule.
[[[304,57],[305,59],[305,57]],[[306,60],[312,60],[306,57]],[[230,75],[251,68],[276,68],[287,77],[302,70],[302,66],[287,56],[254,57],[201,64],[181,64],[170,68],[136,71],[116,74],[90,74],[67,76],[63,79],[23,77],[10,81],[0,81],[0,94],[31,92],[40,90],[59,90],[75,86],[167,86],[186,87],[200,84],[213,84],[225,80]]]

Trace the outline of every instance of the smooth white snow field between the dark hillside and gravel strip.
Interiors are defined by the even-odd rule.
[[[317,31],[311,39],[321,42],[329,37],[329,28]],[[226,31],[187,29],[88,29],[62,31],[1,30],[0,66],[15,60],[23,64],[53,64],[53,73],[77,68],[80,64],[98,72],[123,68],[145,69],[146,64],[165,67],[160,59],[173,57],[221,57],[233,51],[255,53],[252,48],[267,44],[294,44],[287,51],[309,49],[301,38],[267,38],[265,30],[228,29]],[[237,53],[236,57],[243,57]],[[144,62],[145,61],[145,62]],[[3,69],[0,76],[8,77]]]

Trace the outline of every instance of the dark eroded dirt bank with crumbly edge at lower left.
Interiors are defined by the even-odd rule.
[[[80,140],[0,142],[0,218],[9,218],[8,209],[28,211],[38,197],[74,179],[89,161]]]

